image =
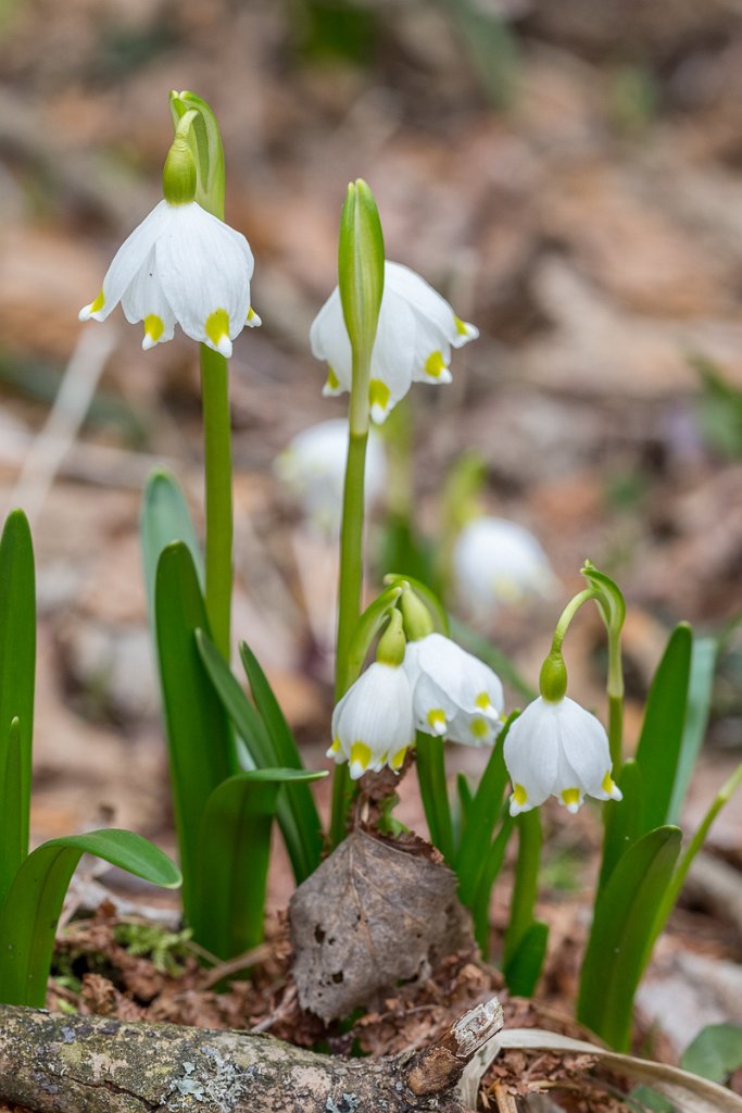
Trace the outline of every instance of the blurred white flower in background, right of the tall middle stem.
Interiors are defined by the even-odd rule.
[[[475,518],[463,528],[453,552],[454,585],[471,613],[494,614],[503,603],[558,589],[546,553],[533,533],[504,518]]]

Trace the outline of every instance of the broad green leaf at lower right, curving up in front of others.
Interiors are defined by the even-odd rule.
[[[644,835],[620,859],[595,906],[582,964],[577,1020],[616,1050],[629,1046],[636,986],[680,851],[677,827]]]

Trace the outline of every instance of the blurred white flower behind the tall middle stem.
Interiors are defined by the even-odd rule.
[[[276,474],[300,500],[306,518],[319,533],[334,535],[339,530],[347,455],[348,423],[345,417],[334,417],[298,433],[275,462]],[[366,452],[366,505],[379,496],[385,481],[384,445],[372,432]]]

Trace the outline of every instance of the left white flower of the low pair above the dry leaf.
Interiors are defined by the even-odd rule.
[[[327,757],[350,762],[350,777],[398,770],[415,740],[409,681],[403,668],[374,661],[333,712],[333,745]]]

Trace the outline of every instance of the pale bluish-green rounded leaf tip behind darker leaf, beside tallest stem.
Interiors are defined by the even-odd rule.
[[[155,612],[157,565],[162,550],[172,541],[182,541],[188,548],[204,590],[204,558],[188,503],[176,477],[165,469],[156,469],[147,480],[139,511],[139,535],[150,615]]]

